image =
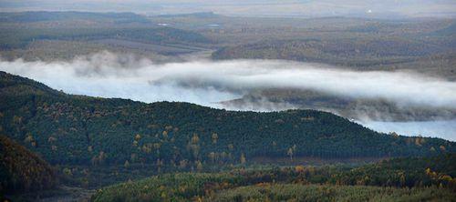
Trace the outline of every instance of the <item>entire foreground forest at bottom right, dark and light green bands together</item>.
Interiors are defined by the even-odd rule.
[[[161,175],[106,187],[92,200],[451,201],[456,197],[455,160],[453,154],[395,158],[354,168],[296,166]]]

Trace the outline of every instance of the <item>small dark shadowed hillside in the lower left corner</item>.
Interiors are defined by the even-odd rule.
[[[1,194],[44,190],[57,184],[56,174],[46,161],[1,135],[0,179]]]

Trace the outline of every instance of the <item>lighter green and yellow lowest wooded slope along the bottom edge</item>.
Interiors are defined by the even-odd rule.
[[[306,185],[238,174],[183,173],[106,187],[91,201],[451,201],[454,197],[451,189],[438,187]]]

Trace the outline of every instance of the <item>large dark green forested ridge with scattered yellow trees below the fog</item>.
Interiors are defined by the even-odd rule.
[[[0,73],[1,133],[53,164],[201,167],[253,157],[399,157],[455,152],[440,138],[379,134],[315,110],[258,113],[70,96]],[[150,92],[153,93],[153,92]]]

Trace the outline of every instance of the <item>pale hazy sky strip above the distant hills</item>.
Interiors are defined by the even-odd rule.
[[[121,11],[150,15],[456,16],[454,0],[0,0],[2,11]]]

